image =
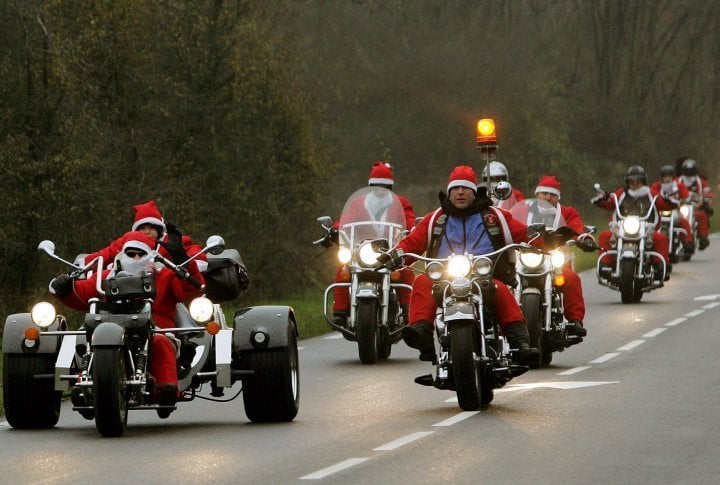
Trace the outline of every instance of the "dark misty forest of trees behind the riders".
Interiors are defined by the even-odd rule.
[[[0,22],[3,320],[66,270],[39,241],[104,247],[150,199],[240,250],[243,303],[324,287],[316,217],[379,159],[433,209],[482,170],[481,117],[515,187],[556,174],[590,223],[630,165],[720,172],[717,0],[8,0]]]

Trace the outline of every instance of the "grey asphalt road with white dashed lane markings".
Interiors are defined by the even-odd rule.
[[[415,384],[430,366],[404,344],[363,366],[328,334],[300,341],[292,423],[250,423],[240,398],[196,400],[166,420],[131,412],[109,439],[64,404],[50,430],[0,421],[0,482],[718,483],[718,254],[713,239],[631,305],[583,273],[585,342],[480,412]]]

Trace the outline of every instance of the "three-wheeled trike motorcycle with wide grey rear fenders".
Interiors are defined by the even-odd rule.
[[[162,264],[197,286],[199,282],[189,277],[186,266],[207,254],[207,281],[215,285],[223,279],[223,271],[227,270],[225,276],[232,275],[241,262],[236,250],[224,250],[224,246],[223,238],[211,236],[199,254],[177,265],[157,251],[153,256],[156,265]],[[69,274],[74,278],[103,274],[102,257],[81,266],[57,256],[51,241],[41,242],[38,250],[71,266]],[[12,427],[55,426],[65,392],[70,393],[72,409],[85,419],[94,419],[103,436],[122,435],[129,410],[155,410],[160,418],[167,418],[182,402],[195,398],[227,402],[240,391],[251,421],[295,418],[299,409],[298,332],[290,307],[239,309],[234,327],[229,328],[220,305],[203,296],[187,307],[177,305],[175,328],[158,328],[152,315],[152,274],[123,276],[118,272],[96,280],[100,297],[89,301],[79,330],[71,330],[66,317],[48,302],[35,304],[30,313],[7,317],[2,342],[3,398],[5,417]],[[208,294],[228,294],[227,288],[208,286],[206,290]],[[180,398],[174,405],[156,402],[148,373],[149,343],[153,335],[161,333],[180,343]],[[242,388],[235,396],[218,399],[224,388],[238,380]],[[212,397],[199,394],[204,384],[209,384]]]

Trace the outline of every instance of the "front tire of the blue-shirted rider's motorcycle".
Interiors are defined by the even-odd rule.
[[[477,362],[478,331],[473,321],[453,324],[450,329],[450,357],[460,409],[475,411],[483,402],[483,376]],[[486,393],[485,393],[486,394]],[[485,395],[485,399],[487,396]]]

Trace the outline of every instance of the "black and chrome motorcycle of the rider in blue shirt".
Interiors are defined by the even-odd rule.
[[[526,248],[526,243],[510,244],[482,256],[447,258],[402,255],[425,262],[438,302],[434,340],[440,351],[433,362],[435,372],[417,377],[417,384],[455,391],[460,408],[474,411],[492,402],[495,389],[529,370],[512,362],[513,350],[493,311],[497,260],[505,251]]]

